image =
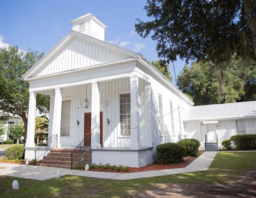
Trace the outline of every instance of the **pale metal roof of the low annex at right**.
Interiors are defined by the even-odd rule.
[[[185,112],[184,121],[210,121],[246,117],[256,117],[256,101],[190,107]]]

